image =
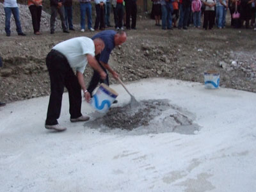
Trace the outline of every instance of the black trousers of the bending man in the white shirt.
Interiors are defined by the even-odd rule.
[[[51,95],[45,125],[58,124],[57,119],[60,118],[64,86],[68,90],[70,118],[78,118],[82,115],[81,86],[72,68],[70,68],[67,58],[60,52],[52,49],[47,54],[46,65],[51,80]]]

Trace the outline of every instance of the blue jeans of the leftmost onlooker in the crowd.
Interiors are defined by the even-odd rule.
[[[20,26],[20,15],[19,15],[19,8],[18,7],[5,7],[4,8],[5,12],[5,32],[6,35],[10,35],[10,20],[11,16],[13,14],[13,17],[15,19],[15,24],[16,24],[16,31],[17,33],[22,33],[22,29]]]

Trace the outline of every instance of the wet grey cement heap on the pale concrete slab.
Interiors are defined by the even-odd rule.
[[[195,134],[200,127],[193,123],[195,116],[178,106],[173,106],[167,99],[142,100],[136,107],[128,104],[110,108],[104,116],[97,117],[85,126],[103,132],[108,130],[126,130],[134,134],[177,132]],[[138,129],[136,129],[138,128]]]

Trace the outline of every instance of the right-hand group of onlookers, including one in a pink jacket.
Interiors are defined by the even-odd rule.
[[[190,24],[195,28],[212,29],[215,25],[223,29],[229,9],[231,26],[256,31],[255,4],[255,0],[152,0],[152,17],[162,29],[188,29]]]

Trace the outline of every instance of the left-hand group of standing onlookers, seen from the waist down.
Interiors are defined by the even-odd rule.
[[[42,2],[45,0],[28,0],[28,7],[31,13],[33,31],[35,35],[42,35],[40,22],[42,15]],[[51,6],[50,32],[54,34],[57,15],[60,15],[63,33],[74,31],[72,21],[73,0],[49,0]],[[113,27],[110,22],[111,7],[117,31],[136,29],[137,0],[79,0],[80,6],[80,31],[102,31],[105,28]],[[95,5],[95,23],[92,22],[92,6]],[[20,25],[19,7],[17,0],[4,0],[5,31],[6,36],[11,35],[10,20],[13,14],[18,35],[26,36]],[[130,21],[131,20],[131,21]],[[126,22],[127,21],[127,22]],[[125,23],[124,23],[125,22]]]

